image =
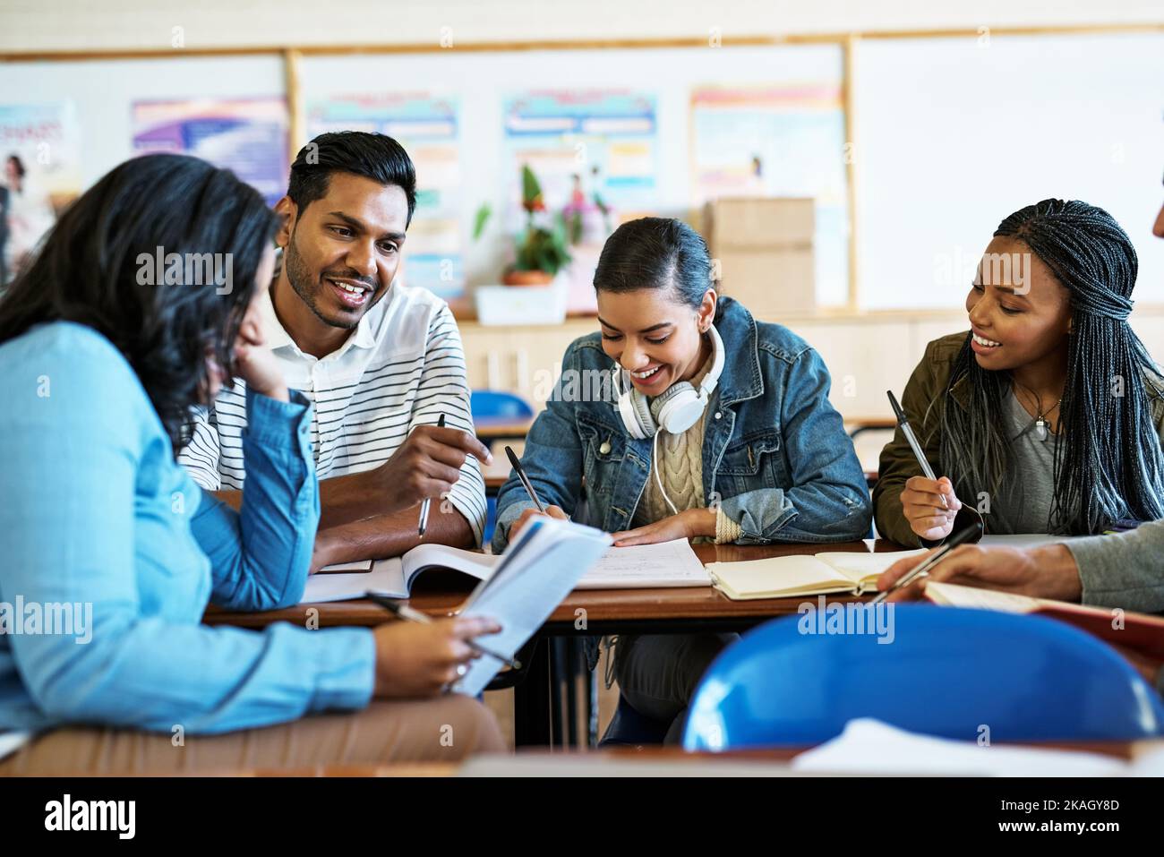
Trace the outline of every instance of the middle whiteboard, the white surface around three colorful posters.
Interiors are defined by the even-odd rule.
[[[504,218],[471,242],[473,215],[482,203],[505,210],[508,163],[503,153],[503,101],[530,88],[633,88],[654,93],[659,146],[655,212],[686,218],[691,206],[690,92],[708,85],[840,80],[835,44],[760,48],[660,48],[498,54],[308,56],[300,66],[305,105],[313,100],[377,92],[430,91],[457,97],[461,109],[461,219],[470,283],[496,282],[510,240]],[[297,141],[299,143],[306,141]],[[838,153],[838,157],[843,153]],[[499,175],[502,170],[505,175]],[[423,177],[420,177],[423,180]],[[843,304],[842,290],[818,299]]]

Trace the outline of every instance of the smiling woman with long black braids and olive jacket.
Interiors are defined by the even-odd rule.
[[[1128,325],[1136,252],[1102,208],[1045,199],[1006,218],[966,299],[971,331],[930,342],[881,453],[878,530],[944,539],[963,504],[987,532],[1094,534],[1164,517],[1164,380]]]

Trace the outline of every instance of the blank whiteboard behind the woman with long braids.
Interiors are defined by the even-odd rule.
[[[1164,300],[1164,35],[870,41],[854,77],[864,309],[961,306],[953,262],[1049,197],[1106,208]]]

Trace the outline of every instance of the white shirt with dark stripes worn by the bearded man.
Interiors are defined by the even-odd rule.
[[[448,305],[427,289],[393,283],[343,346],[321,360],[299,350],[265,291],[256,299],[288,387],[314,403],[311,440],[320,479],[382,465],[414,426],[435,425],[442,413],[448,427],[473,432],[461,334]],[[212,408],[197,412],[193,437],[178,461],[206,490],[241,490],[246,426],[246,390],[235,382]],[[485,483],[471,455],[448,500],[480,545]]]

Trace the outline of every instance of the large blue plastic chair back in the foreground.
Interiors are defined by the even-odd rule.
[[[1156,690],[1084,631],[1039,616],[892,607],[882,625],[892,628],[890,643],[878,643],[873,633],[802,632],[802,623],[822,630],[828,611],[748,632],[704,674],[683,746],[819,744],[854,717],[965,741],[975,741],[985,725],[992,743],[1131,741],[1164,732]]]

